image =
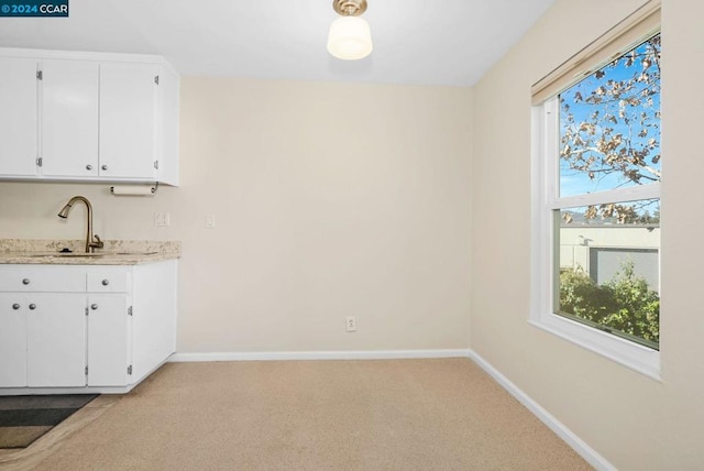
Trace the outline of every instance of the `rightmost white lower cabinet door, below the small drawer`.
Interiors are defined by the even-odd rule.
[[[88,385],[128,384],[132,338],[125,295],[88,296]]]

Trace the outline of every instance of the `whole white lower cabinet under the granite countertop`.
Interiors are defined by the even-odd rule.
[[[176,269],[0,265],[0,395],[130,391],[175,350]]]

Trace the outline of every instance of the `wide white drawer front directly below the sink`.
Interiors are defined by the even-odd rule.
[[[80,293],[86,272],[67,266],[8,265],[0,270],[0,292]]]

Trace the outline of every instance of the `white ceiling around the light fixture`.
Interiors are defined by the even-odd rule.
[[[471,86],[554,0],[367,0],[374,51],[326,51],[332,0],[70,0],[0,18],[0,47],[158,54],[183,75]]]

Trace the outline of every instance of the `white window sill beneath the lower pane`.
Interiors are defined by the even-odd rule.
[[[540,316],[539,319],[531,319],[529,324],[640,374],[656,381],[662,381],[660,376],[660,352],[657,350],[553,314],[546,314]]]

